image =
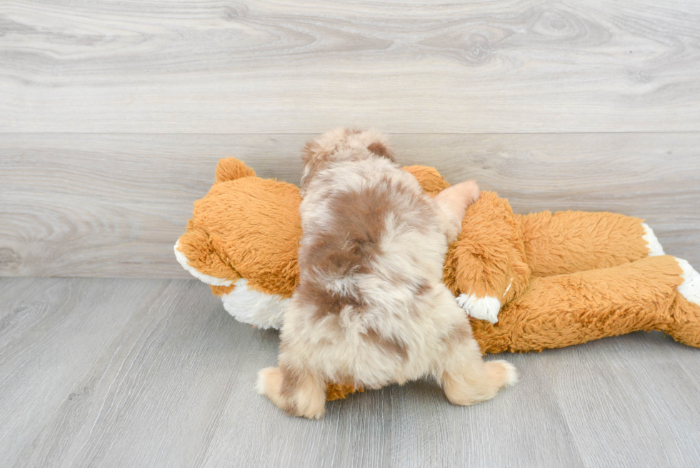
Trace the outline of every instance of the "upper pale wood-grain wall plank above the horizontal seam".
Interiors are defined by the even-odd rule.
[[[3,1],[0,131],[700,131],[695,0]]]

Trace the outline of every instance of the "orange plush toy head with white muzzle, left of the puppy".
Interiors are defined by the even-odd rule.
[[[214,186],[194,204],[176,257],[241,322],[279,328],[299,281],[300,202],[296,186],[261,179],[238,159],[221,159]]]

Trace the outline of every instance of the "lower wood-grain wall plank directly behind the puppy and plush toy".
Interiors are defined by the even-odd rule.
[[[172,246],[221,157],[299,182],[311,135],[9,134],[0,141],[0,275],[187,278]],[[393,135],[402,164],[474,178],[516,212],[646,218],[700,267],[700,134]]]

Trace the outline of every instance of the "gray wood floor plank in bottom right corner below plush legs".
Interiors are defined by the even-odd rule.
[[[579,454],[591,467],[696,466],[700,350],[662,334],[634,338],[604,339],[543,356],[543,374],[551,376]],[[589,347],[605,359],[591,359]],[[664,378],[655,369],[664,369]]]

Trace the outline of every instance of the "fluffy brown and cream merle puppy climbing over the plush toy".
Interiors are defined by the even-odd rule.
[[[514,384],[511,364],[481,359],[469,319],[441,282],[476,183],[431,199],[374,131],[329,131],[306,144],[303,160],[299,285],[279,367],[259,372],[258,392],[319,419],[328,382],[378,389],[431,374],[461,405]]]

